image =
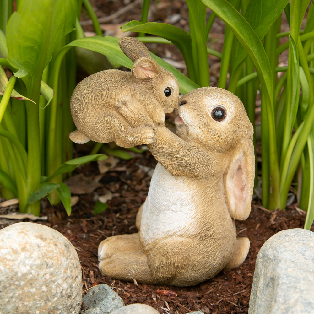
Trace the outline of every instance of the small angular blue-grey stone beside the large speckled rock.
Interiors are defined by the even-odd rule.
[[[80,314],[108,314],[123,306],[122,298],[115,291],[106,284],[100,284],[84,295]]]

